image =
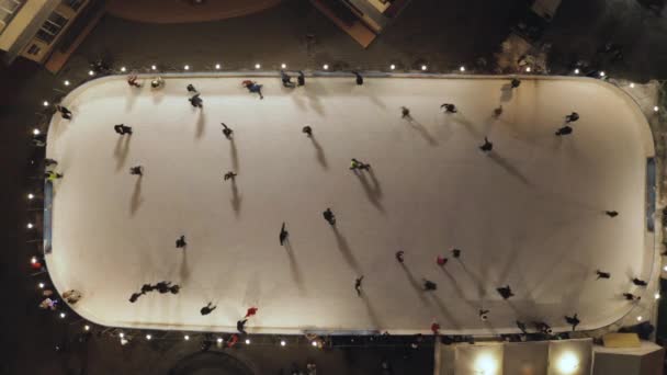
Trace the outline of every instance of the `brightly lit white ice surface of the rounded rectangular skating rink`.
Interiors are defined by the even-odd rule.
[[[241,87],[248,78],[264,100]],[[188,102],[188,83],[203,110]],[[632,100],[606,82],[523,78],[512,91],[509,78],[320,77],[285,89],[276,77],[170,76],[151,90],[108,77],[64,104],[74,118],[54,116],[48,132],[47,157],[65,177],[46,261],[60,293],[82,293],[72,308],[100,325],[235,331],[255,305],[251,333],[430,332],[433,319],[445,333],[513,332],[516,319],[558,331],[575,312],[592,329],[630,311],[621,294],[642,294],[631,277],[651,277],[653,140]],[[574,133],[554,136],[573,111]],[[121,123],[134,134],[115,134]],[[478,149],[485,136],[490,155]],[[350,158],[371,172],[353,173]],[[143,178],[129,174],[136,164]],[[596,281],[597,269],[611,279]],[[438,289],[422,292],[423,277]],[[180,293],[128,302],[159,281]],[[507,284],[516,296],[502,300],[496,287]],[[200,315],[208,302],[217,308]]]

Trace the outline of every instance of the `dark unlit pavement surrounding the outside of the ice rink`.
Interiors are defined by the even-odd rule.
[[[25,195],[41,185],[39,179],[31,179],[38,173],[29,164],[34,151],[31,130],[46,118],[41,114],[42,101],[54,102],[61,95],[55,89],[67,89],[64,79],[75,83],[70,89],[87,79],[89,60],[106,55],[116,67],[146,69],[158,64],[163,69],[179,69],[189,64],[195,71],[212,69],[216,63],[226,70],[251,69],[256,63],[265,69],[278,69],[281,63],[316,69],[328,63],[335,69],[368,70],[386,70],[389,64],[409,69],[426,63],[431,71],[450,72],[465,64],[479,72],[493,72],[493,56],[516,23],[521,2],[415,0],[366,50],[306,0],[286,0],[262,13],[197,24],[142,24],[104,16],[57,76],[22,60],[9,69],[0,68],[0,277],[4,286],[0,374],[225,374],[210,367],[228,363],[222,355],[194,355],[201,338],[183,342],[180,333],[150,343],[135,339],[125,346],[111,332],[78,342],[82,322],[71,315],[61,320],[37,308],[38,277],[30,275],[29,266],[37,248],[27,242],[35,235],[25,229],[35,214],[29,209],[39,204],[30,203]],[[551,71],[568,72],[573,61],[586,60],[614,77],[667,78],[665,13],[658,16],[634,0],[564,0],[543,38],[552,45]],[[308,34],[315,35],[314,42]],[[622,45],[621,61],[609,61],[597,53],[607,42]],[[99,266],[103,270],[104,265]],[[432,373],[429,348],[405,361],[405,346],[369,343],[372,348],[315,350],[301,341],[287,348],[258,343],[230,352],[257,374],[278,374],[292,362],[303,366],[309,357],[320,374],[381,374],[383,356],[392,359],[396,374]],[[54,348],[64,342],[68,343],[66,350],[56,352]]]

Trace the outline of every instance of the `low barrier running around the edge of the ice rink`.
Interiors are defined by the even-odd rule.
[[[290,69],[285,69],[286,72],[293,73],[297,70],[290,70]],[[309,77],[309,78],[354,78],[355,76],[352,73],[352,69],[347,70],[347,71],[341,71],[341,70],[334,70],[334,71],[325,71],[325,70],[309,70],[309,71],[304,71],[304,76],[305,77]],[[611,89],[613,91],[615,91],[621,98],[625,99],[625,101],[629,104],[632,104],[632,106],[635,109],[635,112],[637,114],[641,114],[641,118],[643,118],[644,121],[644,125],[645,126],[641,126],[640,132],[642,133],[642,138],[644,140],[644,150],[645,150],[645,156],[647,157],[647,160],[654,159],[655,157],[655,137],[653,136],[653,133],[651,130],[651,126],[646,120],[646,115],[642,112],[641,110],[641,104],[632,96],[630,95],[628,92],[625,92],[623,90],[623,88],[614,80],[610,80],[610,79],[599,79],[599,78],[591,78],[591,77],[581,77],[581,76],[541,76],[541,75],[474,75],[471,72],[465,72],[465,73],[438,73],[438,72],[386,72],[386,71],[359,71],[364,78],[410,78],[410,79],[465,79],[465,80],[502,80],[502,79],[507,79],[510,80],[512,78],[517,78],[520,80],[572,80],[572,81],[587,81],[587,82],[595,82],[597,84],[600,84],[607,89]],[[127,72],[122,72],[122,73],[117,73],[117,75],[104,75],[104,76],[95,76],[92,78],[87,78],[84,79],[79,86],[77,86],[76,88],[74,88],[72,90],[70,90],[67,94],[65,94],[61,99],[61,103],[64,105],[69,105],[69,103],[71,103],[82,91],[87,90],[89,87],[93,86],[93,84],[98,84],[98,83],[102,83],[105,81],[112,81],[112,80],[126,80],[126,77],[128,75],[136,75],[138,78],[140,79],[149,79],[149,78],[156,78],[156,77],[161,77],[161,78],[248,78],[248,79],[252,79],[252,78],[275,78],[275,79],[280,79],[280,71],[279,70],[247,70],[247,71],[204,71],[204,72],[196,72],[196,71],[174,71],[174,72],[162,72],[162,71],[148,71],[148,72],[135,72],[135,71],[127,71]],[[306,80],[306,84],[307,84],[307,80]],[[50,122],[54,121],[54,118],[56,118],[56,116],[52,116]],[[50,126],[50,122],[49,122],[49,126]],[[647,175],[646,175],[646,202],[645,202],[645,214],[646,214],[646,231],[649,232],[651,237],[654,238],[654,243],[652,243],[652,247],[655,251],[655,249],[657,249],[657,247],[655,246],[655,236],[653,236],[652,230],[649,230],[648,228],[653,228],[654,223],[653,223],[653,213],[655,212],[655,160],[654,163],[652,164],[652,167],[649,167],[649,162],[647,161]],[[653,172],[649,172],[653,169]],[[649,178],[649,173],[652,173],[652,177]],[[649,185],[651,183],[651,185]],[[654,189],[649,189],[649,186],[654,188]],[[653,191],[653,192],[652,192]],[[651,201],[651,202],[649,202]],[[50,205],[49,205],[50,207]],[[47,229],[47,225],[46,225],[46,201],[45,201],[45,236],[44,236],[44,242],[45,242],[45,253],[46,253],[46,245],[47,245],[47,240],[46,240],[46,232],[48,231],[48,251],[52,251],[52,245],[50,245],[50,212],[48,212],[48,229]],[[645,250],[645,249],[644,249]],[[659,251],[659,250],[658,250]],[[649,277],[647,279],[647,281],[651,282],[655,282],[655,280],[657,279],[657,276],[659,276],[659,268],[657,270],[657,272],[655,271],[655,260],[653,257],[648,257],[651,259],[651,264],[648,266],[648,269],[652,270]],[[645,268],[646,269],[646,268]],[[643,296],[646,297],[646,296]],[[648,296],[648,298],[643,298],[643,300],[652,300],[651,296]],[[622,317],[615,319],[614,321],[607,321],[603,322],[601,326],[598,327],[581,327],[581,331],[592,331],[592,330],[599,330],[599,329],[606,329],[606,328],[610,328],[612,326],[619,325],[621,321],[623,321],[625,318],[628,318],[631,314],[636,312],[636,310],[638,309],[637,306],[632,307],[625,315],[623,315]],[[111,328],[111,327],[110,327]],[[126,329],[134,329],[134,330],[151,330],[152,328],[133,328],[133,327],[127,327]],[[168,331],[173,331],[172,329],[165,329],[163,330],[168,330]],[[159,330],[159,329],[158,329]],[[581,332],[579,331],[579,332]],[[204,331],[201,331],[202,334]],[[326,330],[323,330],[321,332],[328,332]],[[350,333],[350,334],[355,334],[355,336],[363,336],[363,334],[368,334],[369,332],[372,331],[355,331],[355,332],[346,332],[346,333]],[[518,330],[517,330],[518,332]],[[275,333],[260,333],[260,334],[299,334],[301,331],[295,331],[295,330],[285,330],[284,332],[275,332]],[[409,332],[396,332],[397,334],[410,334]],[[417,332],[415,332],[417,333]],[[421,333],[428,333],[428,332],[421,332]],[[327,334],[332,334],[332,332],[328,332]],[[456,334],[456,336],[462,336],[462,334],[467,334],[467,333],[452,333],[452,334]],[[487,333],[471,333],[472,336],[475,337],[486,337],[488,336]],[[508,333],[511,334],[511,333]]]

